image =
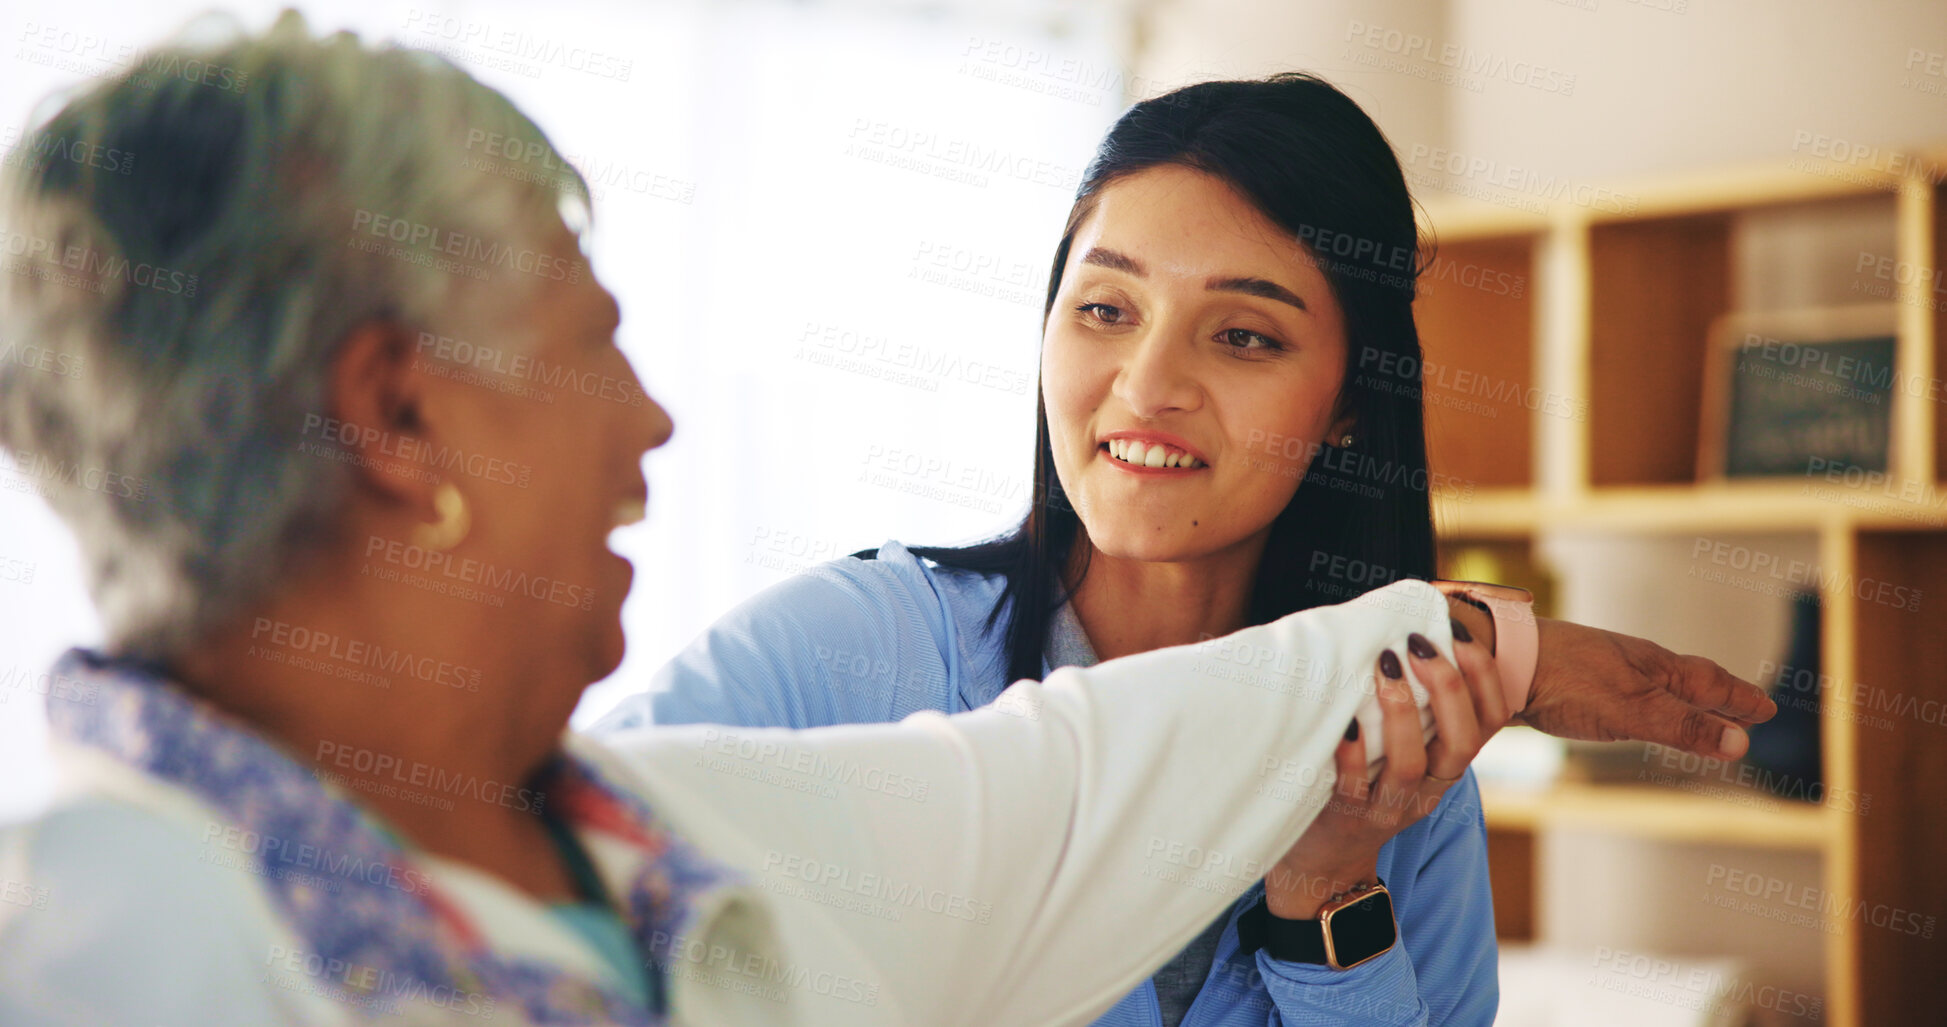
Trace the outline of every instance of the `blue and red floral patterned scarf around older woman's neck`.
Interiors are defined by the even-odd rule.
[[[349,1006],[391,1013],[430,1002],[485,1017],[512,1006],[530,1023],[662,1025],[666,969],[699,898],[740,883],[736,871],[658,826],[639,797],[604,781],[594,766],[559,752],[535,776],[533,789],[570,828],[641,852],[639,867],[609,881],[609,891],[648,961],[650,1000],[643,1006],[561,967],[495,953],[378,818],[154,666],[72,649],[55,674],[93,684],[97,696],[93,704],[49,696],[55,735],[222,811],[228,824],[212,824],[206,842],[261,879],[273,908],[304,939],[308,951],[298,959],[306,972],[323,972],[329,994]]]

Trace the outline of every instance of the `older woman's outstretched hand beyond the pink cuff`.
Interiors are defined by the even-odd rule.
[[[1560,739],[1645,741],[1735,760],[1745,727],[1778,704],[1704,657],[1678,657],[1634,635],[1538,618],[1534,692],[1515,717]]]

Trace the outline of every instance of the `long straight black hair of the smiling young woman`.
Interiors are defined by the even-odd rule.
[[[1164,164],[1217,175],[1248,197],[1306,246],[1345,312],[1340,411],[1355,417],[1355,444],[1312,454],[1297,495],[1271,524],[1250,622],[1343,602],[1400,577],[1433,577],[1414,327],[1414,283],[1423,265],[1414,201],[1386,136],[1351,97],[1299,72],[1203,82],[1137,103],[1116,121],[1083,175],[1047,277],[1044,323],[1096,195],[1120,177]],[[1059,575],[1081,528],[1055,475],[1046,401],[1036,401],[1034,419],[1028,516],[989,542],[913,550],[946,567],[1005,575],[987,628],[1012,610],[1010,680],[1042,676],[1047,620],[1067,600]]]

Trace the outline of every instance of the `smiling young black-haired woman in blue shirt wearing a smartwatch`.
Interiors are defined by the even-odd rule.
[[[1020,526],[968,548],[888,542],[781,583],[602,727],[954,713],[1055,666],[1431,579],[1419,382],[1378,372],[1419,366],[1417,269],[1400,164],[1330,84],[1283,74],[1137,103],[1102,140],[1055,247]],[[1347,565],[1380,573],[1330,573]],[[1338,797],[1273,867],[1170,838],[1131,852],[1143,873],[1192,889],[1264,881],[1098,1023],[1489,1023],[1493,908],[1468,762],[1528,698],[1536,626],[1503,618],[1495,633],[1507,694],[1435,694],[1431,741],[1400,702],[1404,653],[1380,657],[1382,713],[1349,725]],[[1410,649],[1431,653],[1425,639]],[[1509,666],[1511,649],[1525,666]],[[1304,666],[1275,657],[1240,659],[1231,678],[1306,688]],[[1538,690],[1530,711],[1552,704]],[[1390,754],[1375,787],[1357,774],[1361,731],[1380,731]],[[1266,766],[1262,793],[1289,785],[1279,774]],[[1322,908],[1378,883],[1398,941],[1373,959],[1341,969],[1273,941],[1306,920],[1316,937]]]

